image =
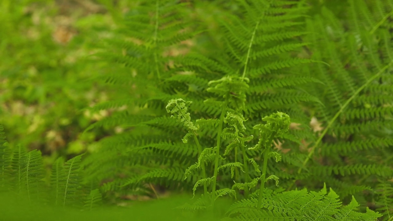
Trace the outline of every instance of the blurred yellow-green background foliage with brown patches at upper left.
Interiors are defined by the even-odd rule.
[[[111,133],[81,133],[108,114],[82,109],[112,96],[105,84],[89,81],[103,64],[88,56],[115,27],[105,7],[92,1],[2,0],[0,11],[0,122],[9,143],[40,149],[51,164]]]

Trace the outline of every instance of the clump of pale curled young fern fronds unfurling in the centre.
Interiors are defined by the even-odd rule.
[[[270,116],[264,117],[262,120],[265,124],[258,124],[253,127],[255,130],[259,130],[259,142],[248,149],[255,151],[255,153],[261,153],[263,158],[262,171],[259,169],[260,166],[255,162],[254,158],[249,158],[246,155],[246,142],[253,139],[253,135],[245,136],[244,132],[246,127],[244,123],[246,120],[240,113],[244,110],[246,101],[246,90],[248,88],[249,79],[246,77],[237,76],[225,76],[219,80],[210,81],[208,92],[217,95],[217,98],[210,98],[204,101],[208,105],[215,105],[222,109],[219,119],[199,119],[195,122],[191,121],[190,113],[187,112],[191,101],[184,101],[183,99],[171,99],[166,106],[167,112],[171,113],[171,118],[176,118],[180,123],[183,123],[187,128],[188,133],[182,139],[184,143],[187,143],[189,138],[193,137],[197,148],[198,148],[198,161],[191,165],[185,171],[185,179],[191,175],[200,171],[199,177],[202,177],[196,181],[193,188],[193,195],[198,186],[203,186],[204,193],[202,196],[195,201],[193,205],[185,204],[178,208],[188,210],[200,210],[206,208],[214,208],[214,203],[218,197],[224,195],[232,195],[237,197],[235,189],[244,190],[244,197],[248,197],[249,190],[257,186],[259,180],[263,180],[259,190],[259,206],[262,200],[262,193],[264,191],[264,183],[269,179],[274,179],[276,185],[278,184],[278,177],[270,175],[266,178],[267,161],[269,157],[275,157],[276,161],[281,159],[279,153],[271,152],[270,146],[274,138],[282,136],[289,129],[290,119],[289,116],[277,112]],[[223,129],[223,124],[226,123],[228,127]],[[217,145],[215,147],[203,148],[198,141],[198,130],[200,127],[211,127],[217,128]],[[231,142],[226,146],[224,156],[230,156],[231,151],[235,151],[234,162],[228,162],[227,158],[220,155],[221,138],[230,139]],[[239,157],[239,151],[241,157]],[[221,160],[221,162],[220,162]],[[209,177],[207,174],[208,163],[213,163],[214,171],[213,176]],[[249,166],[252,166],[255,171],[262,173],[259,177],[251,179]],[[217,175],[220,170],[230,168],[231,179],[235,177],[235,180],[239,181],[240,177],[244,177],[240,182],[235,182],[232,188],[221,188],[217,189]],[[244,176],[238,175],[242,171]],[[211,185],[211,192],[208,192],[208,187]]]

